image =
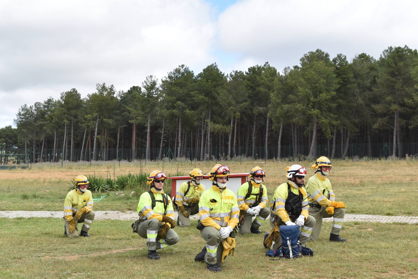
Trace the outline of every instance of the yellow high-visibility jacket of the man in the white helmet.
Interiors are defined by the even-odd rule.
[[[290,183],[289,183],[290,184]],[[299,192],[302,193],[302,212],[301,215],[305,216],[305,220],[308,218],[308,201],[306,199],[306,190],[305,188],[295,188],[292,184],[290,184],[290,190],[293,194],[299,195]],[[274,192],[273,200],[271,200],[270,203],[270,212],[272,212],[275,215],[278,215],[280,219],[282,219],[283,223],[286,223],[286,221],[289,221],[289,215],[288,212],[285,210],[285,203],[289,196],[288,192],[288,184],[283,183],[280,184],[279,187]],[[273,208],[274,206],[274,208]]]

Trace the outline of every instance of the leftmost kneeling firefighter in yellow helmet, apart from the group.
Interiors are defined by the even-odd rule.
[[[92,192],[87,190],[89,180],[84,175],[74,179],[75,189],[68,192],[64,201],[64,235],[89,237],[90,225],[94,220]],[[83,223],[80,234],[77,225]]]

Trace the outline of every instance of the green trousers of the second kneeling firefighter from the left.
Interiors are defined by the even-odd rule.
[[[168,229],[164,238],[157,239],[157,233],[160,228],[160,221],[155,218],[144,220],[139,224],[138,235],[147,239],[148,250],[162,249],[178,242],[178,235],[171,228]]]

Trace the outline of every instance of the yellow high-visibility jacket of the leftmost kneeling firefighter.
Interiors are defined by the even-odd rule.
[[[84,193],[78,189],[73,189],[68,192],[64,200],[64,217],[67,221],[73,219],[73,213],[77,213],[79,209],[86,207],[86,212],[92,210],[93,197],[90,190],[86,190]]]

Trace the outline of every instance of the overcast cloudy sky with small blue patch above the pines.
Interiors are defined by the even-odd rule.
[[[281,72],[316,49],[349,61],[416,49],[417,11],[416,0],[1,0],[0,128],[21,105],[103,82],[128,90],[180,64]]]

